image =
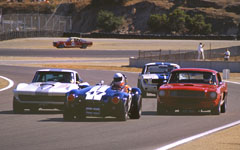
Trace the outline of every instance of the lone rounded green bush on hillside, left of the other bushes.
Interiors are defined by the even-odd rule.
[[[111,32],[123,25],[123,18],[114,16],[112,12],[101,10],[97,16],[97,25],[105,32]]]

